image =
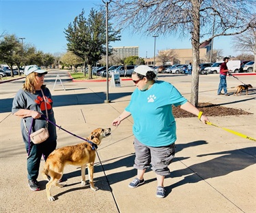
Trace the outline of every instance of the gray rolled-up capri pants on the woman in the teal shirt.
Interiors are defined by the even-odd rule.
[[[174,159],[175,144],[168,146],[152,147],[141,144],[137,138],[134,138],[135,161],[133,167],[135,169],[147,169],[152,165],[152,170],[160,175],[167,176],[170,174],[168,166]]]

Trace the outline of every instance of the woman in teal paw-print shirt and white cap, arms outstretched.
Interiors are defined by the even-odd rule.
[[[156,196],[165,197],[164,180],[165,176],[170,174],[168,166],[174,158],[177,139],[172,105],[199,116],[203,123],[206,123],[208,118],[169,82],[155,79],[156,72],[147,65],[134,69],[132,80],[137,88],[124,112],[113,120],[113,125],[118,126],[130,115],[134,120],[132,132],[137,178],[130,182],[129,187],[136,188],[144,183],[145,170],[151,163],[158,182]]]

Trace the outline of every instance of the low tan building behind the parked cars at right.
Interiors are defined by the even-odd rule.
[[[165,65],[188,65],[192,63],[193,56],[192,56],[192,49],[172,49],[175,52],[175,58],[168,61]],[[200,63],[206,63],[207,58],[207,48],[200,48],[199,49],[199,57]],[[154,58],[147,58],[144,59],[145,65],[154,65]],[[158,57],[156,56],[156,66],[163,65],[162,61],[159,61]]]

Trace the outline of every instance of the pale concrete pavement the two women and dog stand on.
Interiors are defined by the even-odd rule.
[[[55,85],[56,76],[59,80]],[[239,76],[239,80],[256,86],[256,76]],[[109,88],[111,103],[106,99],[106,82],[72,82],[67,71],[51,71],[45,78],[53,95],[57,125],[81,137],[97,127],[111,127],[134,91],[132,81],[122,81],[121,88]],[[191,76],[160,74],[159,80],[171,82],[190,99]],[[218,75],[200,76],[199,102],[218,103],[229,108],[252,112],[246,116],[209,117],[214,124],[256,138],[256,90],[249,95],[218,96]],[[41,191],[27,186],[25,147],[20,133],[20,119],[11,114],[12,99],[24,79],[0,84],[0,212],[256,212],[256,146],[223,129],[203,125],[197,118],[177,118],[175,161],[171,175],[165,179],[167,196],[156,197],[156,178],[149,169],[145,184],[128,188],[136,176],[133,169],[132,117],[119,127],[111,127],[110,137],[102,140],[96,158],[94,182],[99,190],[81,186],[79,167],[65,167],[67,186],[51,189],[57,199],[46,199],[40,175]],[[240,82],[228,78],[228,91]],[[57,130],[57,147],[81,143],[79,138]],[[44,162],[42,161],[40,169]]]

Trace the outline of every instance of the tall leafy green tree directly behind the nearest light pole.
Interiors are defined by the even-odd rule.
[[[89,17],[85,18],[82,10],[79,16],[74,18],[73,23],[68,24],[68,29],[64,33],[68,41],[68,51],[74,52],[87,63],[89,68],[88,78],[91,79],[91,65],[99,61],[106,55],[106,17],[105,13],[91,9]],[[120,31],[113,29],[113,24],[109,23],[109,42],[119,41]]]

